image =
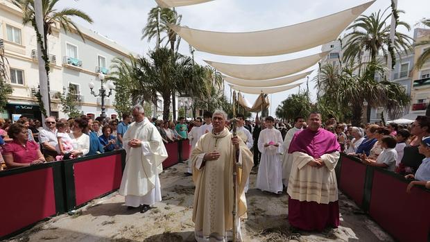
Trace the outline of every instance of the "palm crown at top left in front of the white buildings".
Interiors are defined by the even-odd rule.
[[[60,0],[42,0],[44,49],[46,51],[48,50],[48,35],[52,34],[55,24],[60,24],[65,33],[76,31],[85,42],[83,33],[80,32],[76,23],[71,20],[71,17],[79,17],[90,24],[93,22],[89,15],[76,8],[64,8],[60,11],[56,10],[55,3],[58,3],[58,1]],[[23,12],[22,24],[31,24],[36,28],[34,0],[12,0],[12,3]]]

